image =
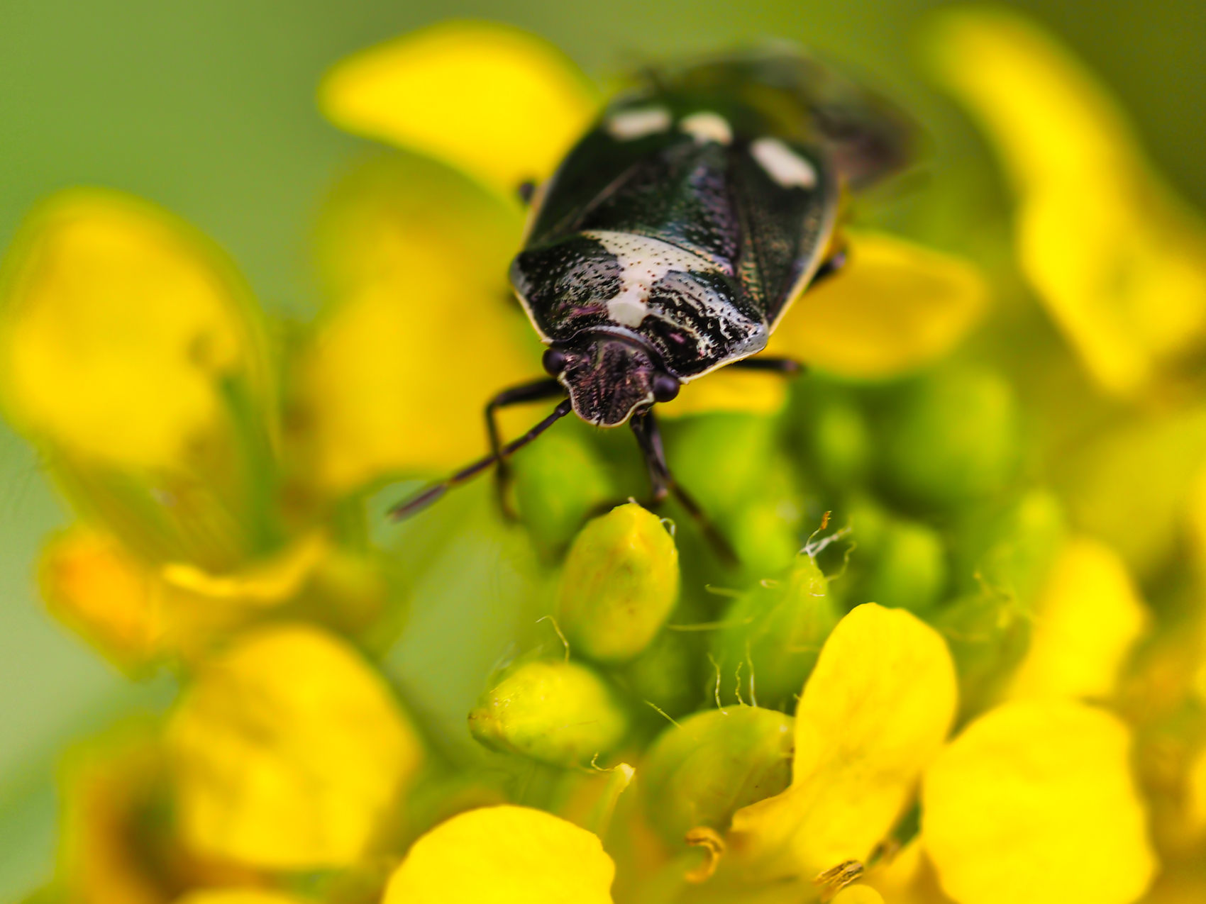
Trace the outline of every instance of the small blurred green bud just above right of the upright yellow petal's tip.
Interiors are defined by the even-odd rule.
[[[878,556],[857,601],[923,612],[947,588],[947,548],[933,528],[917,521],[891,519],[879,538]]]

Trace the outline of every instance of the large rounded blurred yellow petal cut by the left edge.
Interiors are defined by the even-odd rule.
[[[0,398],[55,451],[186,466],[223,383],[263,392],[248,293],[205,239],[116,192],[70,190],[24,224],[0,295]]]

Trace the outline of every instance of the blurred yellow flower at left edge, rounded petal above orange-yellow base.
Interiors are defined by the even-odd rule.
[[[370,577],[375,599],[333,600],[332,570],[375,565],[281,505],[263,333],[212,243],[116,192],[55,195],[5,258],[0,405],[82,519],[43,550],[42,592],[128,670],[303,598],[355,627],[388,597]]]

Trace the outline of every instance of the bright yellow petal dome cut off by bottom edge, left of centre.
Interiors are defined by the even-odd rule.
[[[610,904],[597,835],[526,806],[453,816],[420,838],[382,904]]]

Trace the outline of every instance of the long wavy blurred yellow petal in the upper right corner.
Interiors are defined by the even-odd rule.
[[[1192,366],[1206,339],[1206,229],[1112,99],[1005,11],[944,13],[932,43],[939,78],[1013,177],[1023,270],[1089,372],[1125,395]]]

